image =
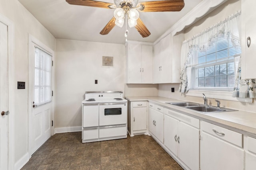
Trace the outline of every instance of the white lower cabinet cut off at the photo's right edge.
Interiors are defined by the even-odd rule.
[[[256,169],[256,139],[247,137],[247,150],[245,151],[245,170]]]

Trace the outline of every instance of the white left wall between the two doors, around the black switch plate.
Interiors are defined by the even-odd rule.
[[[14,90],[14,161],[28,152],[28,34],[54,50],[55,38],[24,8],[18,0],[0,0],[0,14],[14,23],[14,84],[26,82],[26,89]]]

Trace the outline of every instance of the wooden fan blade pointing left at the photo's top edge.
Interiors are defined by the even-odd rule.
[[[71,5],[92,6],[98,8],[108,8],[109,5],[114,5],[107,2],[100,2],[94,0],[66,0],[66,2]]]

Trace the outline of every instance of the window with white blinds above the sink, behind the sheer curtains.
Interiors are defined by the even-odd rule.
[[[237,35],[238,36],[238,35]],[[222,38],[208,50],[192,53],[191,89],[233,90],[237,62],[241,49],[233,47],[231,39]]]

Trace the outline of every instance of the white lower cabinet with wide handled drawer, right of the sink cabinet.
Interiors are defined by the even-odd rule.
[[[200,125],[200,170],[243,170],[243,135],[204,121]]]

